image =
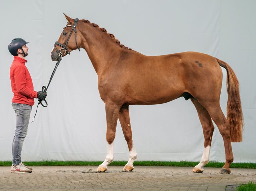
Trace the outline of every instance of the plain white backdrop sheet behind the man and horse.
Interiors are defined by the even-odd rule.
[[[72,3],[70,3],[72,2]],[[254,0],[5,0],[1,2],[0,160],[12,160],[15,114],[11,107],[8,43],[30,41],[27,68],[39,91],[55,66],[53,44],[66,25],[63,13],[88,19],[113,33],[121,44],[145,55],[185,51],[206,53],[227,62],[241,89],[243,142],[232,143],[235,162],[256,162],[256,1]],[[226,113],[226,70],[221,106]],[[85,52],[63,58],[47,91],[48,107],[39,106],[22,150],[23,161],[103,161],[106,156],[105,105],[97,74]],[[33,106],[30,121],[36,110]],[[191,101],[179,98],[160,105],[130,106],[137,160],[199,161],[202,127]],[[127,160],[128,148],[118,122],[114,160]],[[215,128],[210,160],[225,161],[222,137]]]

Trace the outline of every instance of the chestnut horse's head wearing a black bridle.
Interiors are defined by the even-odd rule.
[[[63,31],[60,34],[58,41],[54,43],[54,47],[51,51],[52,61],[56,61],[60,57],[70,54],[70,52],[73,50],[78,49],[80,51],[77,41],[76,30],[79,19],[72,19],[67,15],[65,15],[65,17],[68,20],[68,24],[63,28]]]

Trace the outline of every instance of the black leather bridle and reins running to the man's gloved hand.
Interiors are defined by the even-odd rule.
[[[63,28],[63,29],[65,29],[66,27],[72,27],[72,30],[71,30],[71,32],[70,32],[70,34],[69,34],[69,37],[68,37],[68,39],[67,39],[65,45],[63,45],[63,44],[61,44],[61,43],[59,43],[59,42],[57,42],[57,41],[54,43],[54,48],[55,48],[56,52],[58,53],[58,57],[59,57],[59,58],[58,58],[57,63],[55,64],[54,70],[53,70],[53,72],[52,72],[52,74],[51,74],[51,77],[50,77],[50,80],[49,80],[49,83],[48,83],[47,87],[45,87],[45,86],[42,87],[42,92],[45,93],[45,94],[46,94],[46,91],[47,91],[47,89],[48,89],[48,87],[49,87],[49,85],[50,85],[50,83],[51,83],[51,80],[52,80],[52,78],[53,78],[53,76],[54,76],[54,74],[55,74],[55,72],[56,72],[56,70],[57,70],[57,67],[58,67],[60,61],[62,60],[62,56],[63,56],[64,54],[66,54],[66,53],[67,53],[67,54],[70,54],[70,51],[67,49],[67,45],[68,45],[69,39],[70,39],[70,37],[71,37],[73,31],[74,31],[75,34],[76,34],[75,39],[76,39],[76,45],[77,45],[77,31],[76,31],[76,26],[77,26],[78,21],[79,21],[79,19],[76,18],[75,21],[74,21],[74,25],[67,25],[67,26],[65,26],[65,27]],[[56,48],[56,45],[57,45],[57,46],[60,46],[60,47],[62,47],[62,48],[58,51],[58,49]],[[77,45],[77,48],[78,48],[78,50],[80,51],[80,48],[78,47],[78,45]],[[65,50],[65,52],[64,52],[64,53],[61,53],[61,50]],[[45,105],[42,103],[42,101],[45,102]],[[46,101],[45,99],[44,99],[44,100],[38,99],[38,104],[37,104],[37,107],[36,107],[35,116],[36,116],[37,108],[38,108],[38,105],[39,105],[39,104],[41,104],[43,107],[47,107],[47,106],[48,106],[48,103],[47,103],[47,101]],[[34,116],[34,119],[33,119],[32,122],[35,121],[35,116]]]

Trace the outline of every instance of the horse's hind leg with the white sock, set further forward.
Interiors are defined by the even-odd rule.
[[[197,166],[194,167],[192,172],[203,172],[204,171],[204,166],[208,164],[209,162],[209,156],[210,156],[210,148],[211,148],[211,143],[212,143],[212,136],[213,136],[213,131],[214,131],[214,125],[211,119],[211,116],[209,115],[208,111],[204,106],[202,106],[197,99],[191,98],[191,101],[195,105],[198,116],[200,119],[200,122],[203,127],[203,133],[204,133],[204,138],[205,138],[205,143],[204,143],[204,151],[203,151],[203,156],[201,161]]]

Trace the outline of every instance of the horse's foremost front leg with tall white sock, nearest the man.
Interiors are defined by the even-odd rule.
[[[105,172],[107,170],[107,166],[114,160],[113,141],[116,136],[116,124],[120,106],[106,103],[105,109],[107,119],[106,139],[108,142],[108,148],[106,159],[102,164],[99,165],[99,167],[96,170],[98,172]]]

